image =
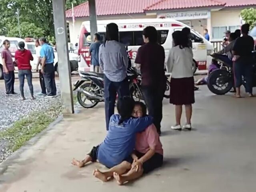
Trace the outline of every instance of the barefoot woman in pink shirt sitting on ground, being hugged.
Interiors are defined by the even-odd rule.
[[[144,103],[135,102],[133,110],[134,117],[141,118],[146,116],[146,112],[147,108]],[[128,165],[127,162],[122,162],[106,172],[95,170],[94,174],[97,174],[94,176],[102,181],[108,181],[109,177],[114,176],[117,183],[121,185],[126,181],[139,178],[142,176],[142,174],[149,173],[152,170],[162,166],[163,149],[154,124],[148,126],[145,131],[137,133],[135,151],[132,154],[132,158],[132,166]],[[86,156],[86,158],[81,162],[73,159],[72,164],[82,167],[85,166],[87,162],[91,162],[90,156]],[[124,170],[126,170],[129,166],[131,169],[126,174],[122,174],[122,172],[124,173]]]

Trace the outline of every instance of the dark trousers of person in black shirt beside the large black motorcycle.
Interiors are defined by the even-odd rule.
[[[246,93],[252,93],[252,64],[250,64],[250,62],[247,63],[246,60],[238,59],[234,62],[233,70],[235,87],[240,87],[243,84],[242,76],[244,76],[246,81],[246,84],[244,85]]]

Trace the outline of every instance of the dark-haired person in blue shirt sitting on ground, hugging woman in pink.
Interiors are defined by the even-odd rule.
[[[113,176],[113,172],[123,174],[130,170],[133,162],[131,154],[135,147],[136,133],[144,131],[153,123],[153,118],[150,116],[134,118],[132,116],[134,106],[135,102],[130,97],[118,99],[118,114],[111,116],[108,134],[104,141],[93,147],[84,160],[80,162],[73,159],[72,164],[82,167],[87,162],[98,160],[104,166],[112,168],[110,176]],[[98,170],[94,171],[94,176],[106,181]]]

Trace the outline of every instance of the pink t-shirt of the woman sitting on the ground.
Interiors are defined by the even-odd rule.
[[[164,151],[162,143],[160,142],[160,138],[154,124],[148,126],[144,132],[137,133],[136,135],[135,150],[145,154],[148,152],[150,147],[155,148],[156,153],[163,155]]]

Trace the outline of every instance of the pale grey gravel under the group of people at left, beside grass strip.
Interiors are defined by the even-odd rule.
[[[18,83],[16,83],[15,91],[18,93],[14,96],[6,96],[5,89],[0,88],[0,131],[8,129],[12,124],[28,116],[31,112],[47,110],[51,106],[60,103],[60,90],[59,84],[57,86],[57,97],[55,98],[44,98],[43,96],[37,96],[41,92],[39,84],[34,84],[34,95],[35,100],[30,99],[30,92],[28,86],[24,86],[24,94],[27,100],[21,101],[18,90]],[[12,152],[8,150],[6,140],[0,140],[0,162],[6,159]]]

